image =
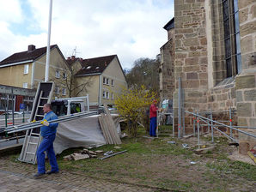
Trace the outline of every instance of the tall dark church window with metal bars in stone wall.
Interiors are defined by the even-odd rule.
[[[241,73],[238,0],[222,0],[227,77]]]

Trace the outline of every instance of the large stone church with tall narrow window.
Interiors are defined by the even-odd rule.
[[[256,1],[174,0],[174,18],[164,27],[160,94],[173,99],[178,129],[179,81],[186,111],[235,111],[237,126],[256,127]],[[186,133],[192,133],[186,113]],[[256,129],[242,129],[256,135]],[[224,130],[229,132],[229,130]],[[256,138],[236,133],[247,150]]]

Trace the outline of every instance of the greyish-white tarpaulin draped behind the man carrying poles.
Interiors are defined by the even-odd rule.
[[[57,135],[54,141],[56,154],[71,147],[100,147],[106,144],[97,116],[82,117],[64,123],[58,123]],[[119,132],[119,117],[113,116]],[[120,132],[119,132],[120,134]]]

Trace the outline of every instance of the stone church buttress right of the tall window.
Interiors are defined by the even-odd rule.
[[[239,0],[242,72],[235,80],[240,126],[256,127],[256,2]],[[256,129],[243,129],[256,135]],[[240,134],[240,152],[256,146],[256,138]]]

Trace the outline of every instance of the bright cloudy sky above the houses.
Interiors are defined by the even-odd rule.
[[[0,61],[47,45],[50,0],[0,0]],[[117,54],[124,69],[155,58],[174,16],[174,0],[53,0],[51,45],[64,57]]]

